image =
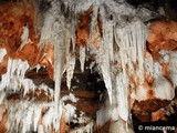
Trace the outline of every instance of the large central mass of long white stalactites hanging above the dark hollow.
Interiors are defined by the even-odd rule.
[[[55,2],[58,4],[53,4],[44,16],[41,42],[50,40],[54,44],[56,101],[59,100],[60,80],[64,71],[66,71],[67,86],[71,88],[76,50],[80,51],[82,71],[84,71],[85,58],[87,55],[94,58],[105,81],[110,103],[115,105],[118,116],[123,120],[128,120],[129,108],[135,99],[138,101],[150,99],[150,96],[173,99],[173,85],[163,76],[160,63],[154,62],[153,57],[146,50],[148,28],[144,21],[152,19],[149,10],[144,8],[136,10],[126,2],[113,0],[84,2],[67,0],[62,1],[64,11],[61,11],[55,8],[61,3]],[[75,24],[81,21],[79,14],[87,10],[92,10],[92,13],[88,14],[91,18],[87,24],[88,35],[83,34],[86,45],[77,44],[81,47],[75,49]],[[139,12],[137,13],[137,11]],[[66,16],[67,13],[69,16]],[[97,24],[97,20],[101,21],[102,28]],[[148,78],[155,79],[153,86],[149,86]],[[158,85],[162,82],[164,86]],[[162,92],[159,88],[165,91]],[[131,98],[131,103],[128,98]]]

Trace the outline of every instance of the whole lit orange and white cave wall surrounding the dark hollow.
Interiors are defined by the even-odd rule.
[[[118,133],[133,132],[128,123],[132,110],[144,122],[166,120],[166,112],[160,110],[165,106],[175,113],[170,101],[177,84],[177,22],[157,21],[148,27],[145,21],[154,19],[150,13],[114,0],[2,2],[3,132],[92,133],[110,127],[112,133],[117,126]],[[79,110],[84,102],[76,98],[80,94],[71,83],[77,61],[82,72],[95,66],[107,90],[100,109],[85,103],[92,106],[87,110],[95,110],[96,119]],[[54,89],[27,76],[30,70],[40,73],[43,68]],[[62,94],[63,76],[70,91],[66,94]],[[144,108],[154,103],[159,106]],[[147,115],[142,117],[142,111]],[[85,126],[72,129],[71,123]]]

